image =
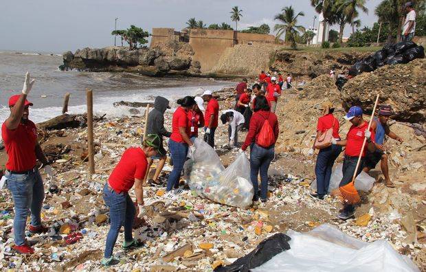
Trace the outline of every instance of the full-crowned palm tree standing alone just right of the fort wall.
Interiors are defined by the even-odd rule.
[[[304,27],[302,25],[297,25],[298,16],[304,16],[303,12],[299,12],[296,16],[295,11],[291,7],[282,8],[282,13],[276,14],[274,20],[280,21],[277,23],[275,27],[273,27],[274,31],[277,31],[276,40],[279,40],[282,34],[285,33],[284,41],[290,41],[291,47],[296,49],[296,41],[295,38],[299,34],[299,32],[304,32]]]

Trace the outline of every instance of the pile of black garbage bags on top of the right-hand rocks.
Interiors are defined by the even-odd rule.
[[[395,65],[409,63],[416,58],[424,58],[425,49],[423,46],[417,46],[412,41],[388,44],[376,53],[357,61],[350,67],[349,75],[358,76],[363,72],[374,71],[383,65]]]

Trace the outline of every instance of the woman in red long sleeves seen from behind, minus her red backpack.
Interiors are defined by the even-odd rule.
[[[258,96],[254,99],[254,102],[256,105],[254,106],[254,113],[251,116],[249,132],[245,137],[245,142],[243,146],[241,146],[240,152],[245,151],[247,146],[250,146],[250,179],[254,187],[253,201],[258,201],[259,198],[258,174],[260,172],[260,198],[262,202],[266,202],[268,192],[268,168],[275,155],[275,143],[279,133],[278,119],[275,113],[271,113],[271,107],[265,96]],[[273,137],[273,139],[271,139],[273,144],[262,147],[258,145],[258,137],[266,120],[269,122],[273,131],[273,135],[270,135]]]

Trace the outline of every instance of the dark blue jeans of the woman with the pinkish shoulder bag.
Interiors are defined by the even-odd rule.
[[[339,157],[341,146],[333,144],[328,148],[320,149],[315,164],[315,176],[317,177],[317,194],[324,196],[330,185],[331,170],[335,160]]]

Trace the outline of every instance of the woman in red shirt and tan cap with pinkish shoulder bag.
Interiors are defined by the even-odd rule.
[[[331,102],[324,102],[322,104],[322,117],[318,118],[317,124],[317,137],[315,140],[326,133],[329,128],[333,128],[333,138],[340,141],[339,136],[339,120],[333,115],[334,106]],[[309,150],[309,155],[313,155],[315,151],[314,146]],[[317,156],[317,163],[315,164],[315,176],[317,177],[317,193],[311,196],[317,199],[324,199],[324,195],[328,192],[328,185],[330,184],[331,170],[337,157],[341,152],[341,146],[330,144],[326,148],[320,149]]]

